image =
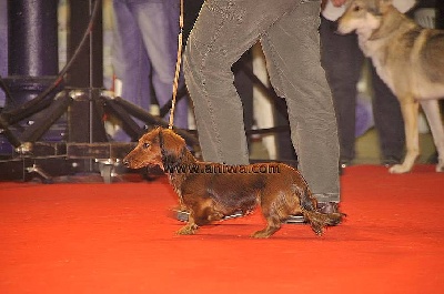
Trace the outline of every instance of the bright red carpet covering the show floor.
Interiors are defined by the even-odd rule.
[[[162,178],[0,183],[0,293],[444,293],[444,174],[347,168],[344,224],[322,237],[260,214],[176,236]]]

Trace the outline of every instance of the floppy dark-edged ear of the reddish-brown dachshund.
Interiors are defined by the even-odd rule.
[[[170,169],[181,163],[185,140],[171,130],[159,128],[159,145],[162,152],[163,168]]]

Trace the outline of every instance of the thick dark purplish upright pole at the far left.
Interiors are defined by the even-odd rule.
[[[57,0],[8,0],[8,79],[6,109],[32,100],[57,77]]]

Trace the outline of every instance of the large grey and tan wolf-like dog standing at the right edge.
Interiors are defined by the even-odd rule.
[[[391,173],[412,170],[420,154],[418,105],[428,121],[444,171],[444,129],[437,99],[444,98],[444,31],[425,29],[392,6],[392,0],[351,0],[339,32],[355,31],[364,54],[397,97],[405,125],[406,154]]]

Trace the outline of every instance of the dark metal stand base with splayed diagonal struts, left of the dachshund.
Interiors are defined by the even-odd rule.
[[[84,110],[88,110],[84,112]],[[135,141],[147,130],[139,126],[134,118],[143,121],[147,125],[168,126],[168,122],[151,115],[145,110],[123,100],[112,97],[110,92],[101,89],[73,89],[63,90],[58,93],[52,103],[44,109],[40,119],[28,126],[20,136],[14,151],[3,161],[0,161],[0,178],[8,179],[4,173],[17,169],[17,162],[21,162],[26,171],[34,172],[37,169],[43,171],[42,161],[59,159],[65,161],[58,164],[59,169],[52,172],[97,172],[100,171],[105,182],[111,182],[114,168],[134,146],[135,143],[110,142],[107,138],[103,121],[104,113],[110,113],[122,121],[123,130]],[[56,121],[67,115],[68,132],[65,141],[62,142],[38,142]],[[195,135],[188,131],[175,129],[191,146],[198,145]],[[89,138],[87,142],[83,140]],[[47,162],[48,163],[48,162]],[[11,165],[12,164],[12,165]],[[33,169],[30,170],[31,165]],[[61,169],[64,166],[65,169]],[[50,172],[43,172],[49,178]],[[11,173],[13,178],[17,173]],[[27,180],[27,176],[22,180]],[[7,176],[7,178],[6,178]]]

